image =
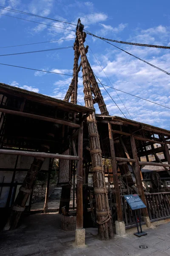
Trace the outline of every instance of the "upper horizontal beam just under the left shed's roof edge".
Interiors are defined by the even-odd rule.
[[[63,119],[54,119],[54,118],[47,117],[47,116],[38,116],[38,115],[30,114],[30,113],[23,113],[23,112],[19,112],[19,111],[4,109],[4,108],[0,108],[0,112],[11,114],[11,115],[17,115],[17,116],[38,119],[38,120],[42,120],[42,121],[46,121],[46,122],[53,122],[53,123],[57,123],[60,125],[67,125],[67,126],[74,127],[74,128],[79,128],[78,124],[75,124],[73,122],[68,122]]]

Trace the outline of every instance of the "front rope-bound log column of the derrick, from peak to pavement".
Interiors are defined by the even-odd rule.
[[[88,72],[88,62],[85,54],[85,47],[83,44],[85,41],[86,33],[82,32],[82,29],[83,25],[80,23],[79,29],[77,29],[77,37],[79,41],[79,52],[81,55],[82,63],[85,106],[88,108],[94,108]],[[90,116],[87,117],[87,124],[91,149],[90,154],[92,162],[94,188],[104,189],[102,191],[105,191],[102,193],[99,191],[95,192],[96,211],[99,213],[97,215],[97,221],[99,223],[99,236],[101,239],[109,239],[113,237],[113,227],[111,221],[111,212],[108,203],[108,195],[105,185],[105,176],[102,167],[102,154],[100,149],[99,134],[97,130],[95,113],[92,113],[90,114]]]

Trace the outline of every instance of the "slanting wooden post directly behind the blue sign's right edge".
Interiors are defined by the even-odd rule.
[[[145,197],[144,197],[144,190],[143,190],[143,186],[142,186],[142,179],[141,179],[141,175],[140,175],[139,160],[138,160],[136,144],[135,144],[135,139],[134,139],[133,134],[130,135],[130,143],[131,143],[131,148],[132,148],[133,159],[135,160],[134,168],[135,168],[136,185],[137,185],[139,194],[141,194],[141,199],[144,202],[144,204],[146,205],[146,201],[145,201]],[[148,212],[147,212],[147,208],[143,208],[142,213],[143,213],[144,217],[149,216]]]

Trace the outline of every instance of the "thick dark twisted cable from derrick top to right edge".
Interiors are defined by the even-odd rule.
[[[106,40],[106,41],[115,42],[115,43],[119,43],[119,44],[130,44],[130,45],[136,45],[136,46],[144,46],[144,47],[154,47],[154,48],[170,49],[170,46],[153,45],[153,44],[130,43],[130,42],[112,40],[112,39],[108,39],[108,38],[102,38],[102,37],[100,37],[100,36],[94,35],[93,33],[89,32],[89,31],[86,30],[86,29],[84,29],[84,31],[85,31],[88,35],[92,35],[92,36],[94,36],[94,37],[96,37],[96,38],[99,38],[99,39],[102,39],[102,40]]]

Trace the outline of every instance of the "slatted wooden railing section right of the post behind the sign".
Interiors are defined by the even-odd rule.
[[[145,193],[151,221],[170,218],[170,192]]]

